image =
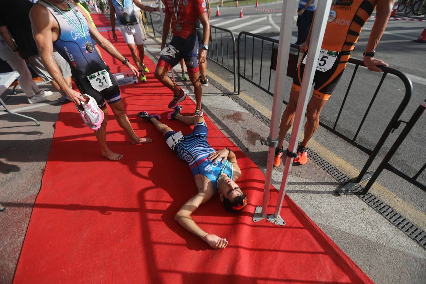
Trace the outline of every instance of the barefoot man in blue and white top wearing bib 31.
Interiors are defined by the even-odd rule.
[[[151,142],[150,138],[139,138],[133,131],[121,102],[118,85],[94,49],[92,37],[136,76],[138,70],[95,27],[88,24],[90,19],[86,12],[75,3],[66,0],[40,0],[32,7],[30,18],[40,56],[50,75],[68,98],[80,106],[82,101],[86,101],[81,94],[87,94],[96,100],[95,103],[104,113],[107,112],[105,103],[107,101],[118,124],[127,132],[132,144]],[[69,63],[72,77],[81,93],[71,89],[63,79],[52,57],[53,47]],[[93,109],[93,112],[97,111]],[[107,146],[107,122],[105,114],[100,128],[95,131],[95,136],[101,146],[102,155],[112,161],[120,160],[123,155],[112,152]]]

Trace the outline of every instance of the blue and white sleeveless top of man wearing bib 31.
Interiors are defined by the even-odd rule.
[[[70,65],[72,77],[82,79],[95,72],[104,70],[106,65],[104,60],[99,57],[96,49],[93,52],[87,51],[86,40],[94,46],[89,34],[89,24],[80,9],[74,3],[68,3],[70,7],[67,10],[61,11],[79,27],[80,31],[81,25],[83,26],[86,39],[84,39],[79,29],[70,23],[61,11],[58,11],[57,8],[45,0],[37,2],[37,4],[46,7],[58,22],[59,37],[53,42],[53,47]]]

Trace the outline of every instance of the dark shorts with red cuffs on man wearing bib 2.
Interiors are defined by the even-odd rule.
[[[174,36],[169,44],[176,48],[179,52],[175,54],[175,57],[161,55],[157,66],[164,67],[168,71],[176,66],[176,64],[178,64],[183,58],[187,66],[188,73],[198,73],[199,43],[197,33],[194,32],[193,34],[190,34],[186,39]]]

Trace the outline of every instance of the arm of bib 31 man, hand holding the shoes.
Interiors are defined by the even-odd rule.
[[[56,64],[55,59],[53,59],[52,23],[56,22],[56,20],[53,19],[52,14],[41,5],[34,5],[32,7],[30,19],[32,22],[32,34],[47,71],[65,92],[69,100],[80,105],[81,101],[84,101],[84,98],[80,93],[75,92],[68,86],[68,83],[63,79],[58,64]]]

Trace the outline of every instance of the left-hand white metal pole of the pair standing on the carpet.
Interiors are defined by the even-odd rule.
[[[282,98],[284,97],[285,77],[288,65],[288,54],[290,53],[291,34],[293,32],[294,11],[296,11],[296,0],[282,2],[281,28],[278,43],[277,68],[275,73],[275,86],[273,96],[273,109],[271,117],[271,129],[267,140],[269,146],[268,162],[266,164],[265,188],[263,189],[262,215],[259,216],[257,207],[253,221],[257,222],[266,218],[268,207],[269,189],[271,188],[271,176],[273,167],[273,156],[278,143],[278,126],[281,117]]]

